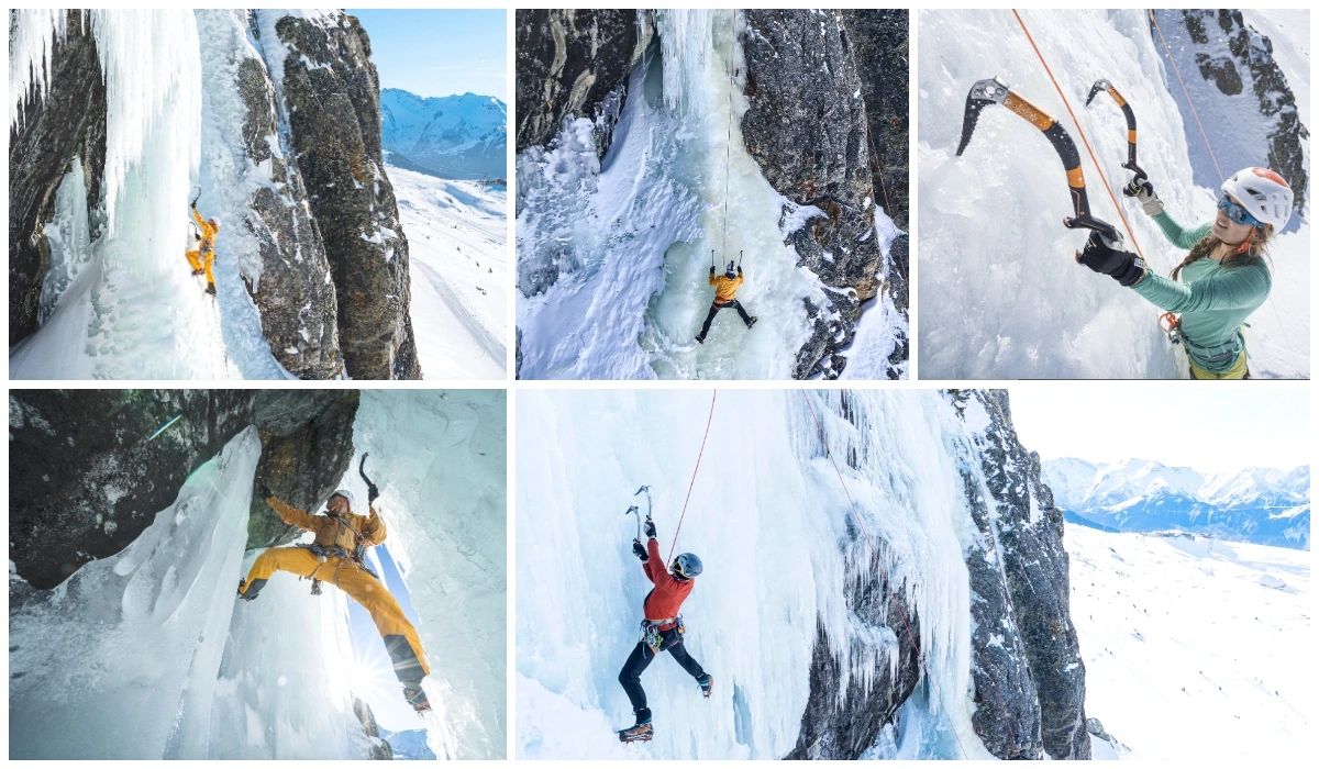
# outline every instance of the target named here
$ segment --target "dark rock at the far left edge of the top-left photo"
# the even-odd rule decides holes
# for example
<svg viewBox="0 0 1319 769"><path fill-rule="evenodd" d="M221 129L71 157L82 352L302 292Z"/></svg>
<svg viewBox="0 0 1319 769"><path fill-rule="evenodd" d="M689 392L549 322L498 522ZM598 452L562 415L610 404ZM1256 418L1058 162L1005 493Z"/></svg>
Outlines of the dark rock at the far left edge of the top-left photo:
<svg viewBox="0 0 1319 769"><path fill-rule="evenodd" d="M84 168L87 210L102 204L106 78L90 18L82 11L66 13L66 36L53 38L49 88L44 96L34 90L25 94L18 121L9 127L11 346L37 330L42 280L50 266L44 227L54 215L55 190L75 161ZM13 16L9 24L12 29ZM95 237L100 226L91 226Z"/></svg>

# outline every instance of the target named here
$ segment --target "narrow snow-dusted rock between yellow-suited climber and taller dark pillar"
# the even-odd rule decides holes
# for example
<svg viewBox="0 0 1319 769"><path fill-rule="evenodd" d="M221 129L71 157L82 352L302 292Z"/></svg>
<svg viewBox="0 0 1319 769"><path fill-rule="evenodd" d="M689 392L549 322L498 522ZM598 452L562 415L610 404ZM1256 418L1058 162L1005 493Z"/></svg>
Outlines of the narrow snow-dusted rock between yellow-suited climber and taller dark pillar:
<svg viewBox="0 0 1319 769"><path fill-rule="evenodd" d="M306 203L302 174L272 148L278 146L282 133L274 84L261 59L244 58L235 69L235 86L247 108L247 160L253 173L268 173L241 223L257 241L261 277L253 281L244 276L244 282L280 365L299 379L336 379L343 375L338 297L326 280L330 261Z"/></svg>

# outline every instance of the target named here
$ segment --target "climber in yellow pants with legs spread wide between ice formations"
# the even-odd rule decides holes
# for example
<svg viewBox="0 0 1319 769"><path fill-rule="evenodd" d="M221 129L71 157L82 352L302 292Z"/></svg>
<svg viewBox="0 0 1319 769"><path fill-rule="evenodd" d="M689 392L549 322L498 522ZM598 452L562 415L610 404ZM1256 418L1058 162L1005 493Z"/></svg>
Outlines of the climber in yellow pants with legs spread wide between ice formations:
<svg viewBox="0 0 1319 769"><path fill-rule="evenodd" d="M328 582L348 594L361 604L375 620L385 649L394 663L394 674L404 685L404 696L418 712L430 710L421 681L430 674L426 653L421 648L417 629L404 615L402 607L389 594L385 583L372 574L365 563L365 549L385 541L385 522L372 507L371 513L359 516L352 512L352 492L339 489L330 495L324 514L313 516L299 510L259 483L259 491L265 504L280 516L280 520L315 533L310 545L290 547L270 547L257 557L248 578L239 583L239 596L256 600L261 588L276 571L289 571L313 580ZM371 503L377 492L371 488ZM313 592L319 592L319 584L313 582Z"/></svg>

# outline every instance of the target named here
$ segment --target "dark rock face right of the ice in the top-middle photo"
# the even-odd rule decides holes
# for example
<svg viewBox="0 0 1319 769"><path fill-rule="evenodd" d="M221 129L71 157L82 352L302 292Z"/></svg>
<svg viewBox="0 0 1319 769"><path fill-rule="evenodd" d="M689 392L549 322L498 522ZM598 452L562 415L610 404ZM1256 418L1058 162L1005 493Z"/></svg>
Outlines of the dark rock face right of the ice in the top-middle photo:
<svg viewBox="0 0 1319 769"><path fill-rule="evenodd" d="M789 236L798 264L834 289L827 306L807 302L814 332L798 351L793 376L836 377L845 365L839 351L855 334L860 306L880 293L885 278L871 208L876 191L869 115L856 51L838 12L744 11L743 17L747 152L778 193L826 214ZM853 28L864 33L859 21ZM906 69L892 77L905 100Z"/></svg>

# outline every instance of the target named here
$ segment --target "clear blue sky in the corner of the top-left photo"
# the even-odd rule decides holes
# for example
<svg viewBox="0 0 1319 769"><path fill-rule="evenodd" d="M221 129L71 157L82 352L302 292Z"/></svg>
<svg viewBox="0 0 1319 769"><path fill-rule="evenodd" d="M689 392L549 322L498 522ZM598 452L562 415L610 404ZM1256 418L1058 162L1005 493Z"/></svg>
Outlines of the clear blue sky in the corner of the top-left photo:
<svg viewBox="0 0 1319 769"><path fill-rule="evenodd" d="M381 88L508 102L504 11L348 9L371 37Z"/></svg>

